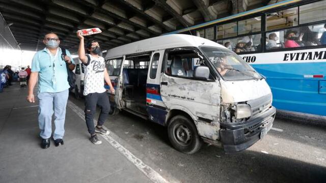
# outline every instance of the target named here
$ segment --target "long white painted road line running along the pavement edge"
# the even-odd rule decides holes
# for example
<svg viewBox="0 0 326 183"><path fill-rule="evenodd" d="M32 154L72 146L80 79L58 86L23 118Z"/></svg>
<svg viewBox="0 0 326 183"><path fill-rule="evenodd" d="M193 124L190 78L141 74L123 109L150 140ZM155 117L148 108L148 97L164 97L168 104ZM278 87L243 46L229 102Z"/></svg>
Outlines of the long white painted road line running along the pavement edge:
<svg viewBox="0 0 326 183"><path fill-rule="evenodd" d="M85 121L84 111L68 100L67 106L73 110L80 118ZM94 119L94 123L97 121ZM105 127L105 126L104 126ZM107 129L107 128L106 128ZM111 132L112 133L112 132ZM122 146L119 142L113 139L110 135L101 135L108 143L117 149L123 156L125 156L131 163L133 163L140 171L142 171L153 182L166 183L169 182L157 173L153 168L146 165L141 159L135 157L128 149Z"/></svg>

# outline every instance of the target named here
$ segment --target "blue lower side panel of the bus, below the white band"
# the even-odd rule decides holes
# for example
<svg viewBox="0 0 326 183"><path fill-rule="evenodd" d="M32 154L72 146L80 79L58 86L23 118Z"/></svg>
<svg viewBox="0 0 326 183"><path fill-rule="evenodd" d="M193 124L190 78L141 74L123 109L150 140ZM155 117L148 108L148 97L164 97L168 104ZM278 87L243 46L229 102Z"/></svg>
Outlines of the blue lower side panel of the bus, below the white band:
<svg viewBox="0 0 326 183"><path fill-rule="evenodd" d="M319 81L326 80L325 62L252 66L266 76L276 108L326 115L326 95L319 93Z"/></svg>

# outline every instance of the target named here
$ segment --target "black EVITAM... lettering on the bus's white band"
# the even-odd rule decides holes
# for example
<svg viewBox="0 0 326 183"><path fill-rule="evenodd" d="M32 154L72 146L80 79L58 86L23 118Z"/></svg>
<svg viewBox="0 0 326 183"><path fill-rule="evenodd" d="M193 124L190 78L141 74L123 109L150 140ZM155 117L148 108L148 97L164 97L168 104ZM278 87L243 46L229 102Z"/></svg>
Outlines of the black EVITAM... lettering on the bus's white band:
<svg viewBox="0 0 326 183"><path fill-rule="evenodd" d="M283 61L326 59L326 51L285 53Z"/></svg>

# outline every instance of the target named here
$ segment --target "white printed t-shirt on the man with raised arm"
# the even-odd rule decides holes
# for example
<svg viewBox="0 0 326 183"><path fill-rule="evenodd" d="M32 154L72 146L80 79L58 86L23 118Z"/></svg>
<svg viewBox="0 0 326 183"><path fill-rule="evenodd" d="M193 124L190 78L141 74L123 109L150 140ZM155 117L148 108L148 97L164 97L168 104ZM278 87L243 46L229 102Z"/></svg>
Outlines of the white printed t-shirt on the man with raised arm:
<svg viewBox="0 0 326 183"><path fill-rule="evenodd" d="M104 88L104 69L105 62L102 56L94 57L91 54L86 55L87 63L84 65L84 96L91 93L103 93Z"/></svg>

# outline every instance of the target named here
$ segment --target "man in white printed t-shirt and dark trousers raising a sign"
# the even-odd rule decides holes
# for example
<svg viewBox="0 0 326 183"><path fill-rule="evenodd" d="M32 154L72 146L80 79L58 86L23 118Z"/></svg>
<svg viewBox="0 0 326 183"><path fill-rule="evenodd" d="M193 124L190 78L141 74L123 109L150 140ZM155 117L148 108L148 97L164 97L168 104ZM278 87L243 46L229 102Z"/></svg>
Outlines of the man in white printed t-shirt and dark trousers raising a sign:
<svg viewBox="0 0 326 183"><path fill-rule="evenodd" d="M110 102L105 92L103 80L110 86L111 93L115 90L112 86L110 77L105 69L105 62L102 56L99 56L101 51L96 40L89 40L86 48L89 54L85 55L84 37L80 32L77 32L77 37L80 40L78 48L79 59L84 64L85 79L84 79L84 96L85 96L85 120L88 132L91 134L91 142L101 144L96 133L107 135L109 132L103 129L103 123L110 112ZM96 105L101 107L101 113L97 120L97 125L94 127L93 119L96 112Z"/></svg>

